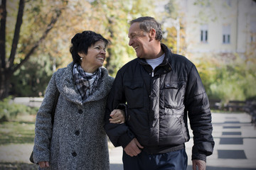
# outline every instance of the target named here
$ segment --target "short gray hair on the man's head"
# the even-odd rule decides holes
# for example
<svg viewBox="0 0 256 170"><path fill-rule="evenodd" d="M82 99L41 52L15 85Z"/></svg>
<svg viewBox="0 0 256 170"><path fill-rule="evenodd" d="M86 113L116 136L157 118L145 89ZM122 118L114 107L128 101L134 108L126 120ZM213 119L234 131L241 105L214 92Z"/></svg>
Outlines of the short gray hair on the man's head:
<svg viewBox="0 0 256 170"><path fill-rule="evenodd" d="M139 18L136 18L129 22L130 25L132 23L139 23L139 28L144 30L146 33L149 33L149 31L154 28L156 30L156 40L161 41L163 38L163 31L161 30L161 23L158 23L155 18L151 16L142 16Z"/></svg>

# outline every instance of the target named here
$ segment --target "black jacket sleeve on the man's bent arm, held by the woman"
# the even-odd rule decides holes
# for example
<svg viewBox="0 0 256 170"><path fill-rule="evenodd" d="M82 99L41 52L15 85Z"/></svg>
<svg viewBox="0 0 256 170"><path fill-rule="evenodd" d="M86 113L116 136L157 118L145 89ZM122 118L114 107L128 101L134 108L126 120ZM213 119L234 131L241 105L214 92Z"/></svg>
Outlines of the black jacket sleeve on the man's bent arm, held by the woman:
<svg viewBox="0 0 256 170"><path fill-rule="evenodd" d="M115 124L110 123L109 120L110 113L114 109L123 109L123 105L121 103L126 103L126 100L122 84L122 74L119 71L117 72L117 76L114 79L110 95L107 99L107 106L105 111L105 131L114 147L122 146L124 148L129 144L129 142L132 141L134 134L129 130L125 123Z"/></svg>

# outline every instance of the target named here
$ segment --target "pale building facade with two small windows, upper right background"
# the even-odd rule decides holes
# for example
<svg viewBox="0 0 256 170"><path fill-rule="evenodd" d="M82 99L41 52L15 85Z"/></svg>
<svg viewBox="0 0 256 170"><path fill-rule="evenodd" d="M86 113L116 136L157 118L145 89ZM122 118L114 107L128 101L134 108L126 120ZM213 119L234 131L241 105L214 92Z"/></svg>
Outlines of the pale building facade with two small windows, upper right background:
<svg viewBox="0 0 256 170"><path fill-rule="evenodd" d="M255 50L256 2L252 0L179 1L189 57L239 54ZM181 12L182 12L181 11Z"/></svg>

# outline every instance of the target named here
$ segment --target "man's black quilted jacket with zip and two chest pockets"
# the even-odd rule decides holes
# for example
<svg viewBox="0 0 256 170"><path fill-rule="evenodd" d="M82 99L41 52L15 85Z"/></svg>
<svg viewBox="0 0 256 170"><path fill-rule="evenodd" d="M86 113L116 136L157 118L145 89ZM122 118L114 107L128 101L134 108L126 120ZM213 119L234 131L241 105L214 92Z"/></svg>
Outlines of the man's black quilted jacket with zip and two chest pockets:
<svg viewBox="0 0 256 170"><path fill-rule="evenodd" d="M195 65L161 45L164 61L154 69L135 59L122 67L107 101L105 130L115 147L126 147L136 137L149 153L183 148L193 130L192 159L206 161L213 152L211 113L208 97ZM110 112L127 103L126 123L109 123Z"/></svg>

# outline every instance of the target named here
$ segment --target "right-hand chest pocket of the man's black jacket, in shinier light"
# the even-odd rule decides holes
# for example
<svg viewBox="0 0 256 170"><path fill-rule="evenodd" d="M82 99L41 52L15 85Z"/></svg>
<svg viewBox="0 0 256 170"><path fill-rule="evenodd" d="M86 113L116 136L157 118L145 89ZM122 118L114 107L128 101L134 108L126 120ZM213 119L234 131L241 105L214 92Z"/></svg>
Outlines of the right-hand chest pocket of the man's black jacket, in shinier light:
<svg viewBox="0 0 256 170"><path fill-rule="evenodd" d="M185 96L185 81L169 81L164 84L164 106L166 108L180 108Z"/></svg>

